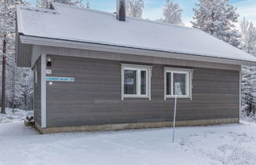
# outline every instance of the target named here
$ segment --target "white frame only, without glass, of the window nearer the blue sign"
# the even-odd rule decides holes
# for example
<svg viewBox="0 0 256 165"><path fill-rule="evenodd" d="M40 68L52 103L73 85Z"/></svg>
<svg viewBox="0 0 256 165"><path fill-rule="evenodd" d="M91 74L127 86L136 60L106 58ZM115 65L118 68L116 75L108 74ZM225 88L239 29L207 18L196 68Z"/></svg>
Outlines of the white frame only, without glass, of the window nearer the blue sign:
<svg viewBox="0 0 256 165"><path fill-rule="evenodd" d="M141 94L141 74L137 74L137 94L124 94L124 70L134 70L137 73L141 73L141 71L146 72L146 94ZM122 101L124 98L131 97L144 97L149 98L151 100L151 76L152 76L152 66L148 65L137 65L137 64L121 64L121 82L122 82Z"/></svg>

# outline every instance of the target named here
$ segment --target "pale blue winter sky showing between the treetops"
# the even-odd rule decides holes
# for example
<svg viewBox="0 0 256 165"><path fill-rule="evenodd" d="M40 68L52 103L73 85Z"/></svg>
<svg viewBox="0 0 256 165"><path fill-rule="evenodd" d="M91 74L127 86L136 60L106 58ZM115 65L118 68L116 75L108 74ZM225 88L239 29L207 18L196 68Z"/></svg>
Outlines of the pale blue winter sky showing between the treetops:
<svg viewBox="0 0 256 165"><path fill-rule="evenodd" d="M36 5L36 0L28 0L32 3L32 6ZM83 0L84 2L89 1L91 9L98 9L107 12L115 12L116 0ZM183 9L183 22L186 26L191 26L190 20L193 18L193 8L198 0L174 0L178 2ZM143 18L149 20L157 20L162 16L162 9L165 0L145 0L145 9L143 12ZM243 19L243 16L250 20L256 25L256 0L231 0L239 14L239 20Z"/></svg>

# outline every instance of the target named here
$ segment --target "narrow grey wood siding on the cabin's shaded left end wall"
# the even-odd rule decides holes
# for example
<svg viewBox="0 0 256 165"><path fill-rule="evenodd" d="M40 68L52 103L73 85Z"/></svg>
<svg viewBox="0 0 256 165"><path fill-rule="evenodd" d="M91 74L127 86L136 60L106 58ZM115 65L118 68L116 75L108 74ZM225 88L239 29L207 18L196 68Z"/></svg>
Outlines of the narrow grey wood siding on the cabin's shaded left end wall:
<svg viewBox="0 0 256 165"><path fill-rule="evenodd" d="M36 123L40 124L41 126L41 58L39 58L39 60L36 62L36 66L37 66L37 84L35 84L35 80L34 80L34 84L35 84L34 117L35 117Z"/></svg>

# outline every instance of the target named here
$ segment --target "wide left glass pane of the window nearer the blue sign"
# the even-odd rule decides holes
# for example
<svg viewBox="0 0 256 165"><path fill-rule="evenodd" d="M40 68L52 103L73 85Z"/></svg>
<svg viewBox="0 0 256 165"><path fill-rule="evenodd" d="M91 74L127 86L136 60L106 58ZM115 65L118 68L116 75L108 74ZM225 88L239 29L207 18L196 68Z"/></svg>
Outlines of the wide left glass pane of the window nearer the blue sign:
<svg viewBox="0 0 256 165"><path fill-rule="evenodd" d="M124 70L124 94L137 94L137 71Z"/></svg>

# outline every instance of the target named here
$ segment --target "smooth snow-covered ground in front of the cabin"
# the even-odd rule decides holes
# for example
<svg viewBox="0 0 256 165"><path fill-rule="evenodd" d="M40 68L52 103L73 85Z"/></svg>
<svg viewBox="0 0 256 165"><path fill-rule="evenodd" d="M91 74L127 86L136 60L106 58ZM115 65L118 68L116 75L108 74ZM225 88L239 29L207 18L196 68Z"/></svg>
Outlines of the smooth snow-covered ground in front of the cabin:
<svg viewBox="0 0 256 165"><path fill-rule="evenodd" d="M254 165L256 124L38 134L22 122L0 124L0 164Z"/></svg>

